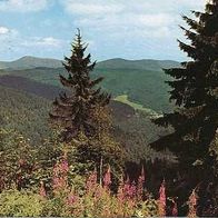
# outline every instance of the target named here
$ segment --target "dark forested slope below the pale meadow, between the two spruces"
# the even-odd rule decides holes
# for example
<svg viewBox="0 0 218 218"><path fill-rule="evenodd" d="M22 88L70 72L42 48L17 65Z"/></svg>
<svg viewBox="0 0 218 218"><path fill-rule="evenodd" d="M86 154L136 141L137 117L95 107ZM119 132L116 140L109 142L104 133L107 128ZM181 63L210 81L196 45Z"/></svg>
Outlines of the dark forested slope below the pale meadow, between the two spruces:
<svg viewBox="0 0 218 218"><path fill-rule="evenodd" d="M127 113L128 117L123 117L121 115L123 109L121 107L118 109L120 111L113 113L113 136L121 145L125 145L128 161L136 164L155 162L156 160L175 162L172 153L155 151L148 146L159 136L169 133L170 129L157 128L142 111L137 111L133 115Z"/></svg>

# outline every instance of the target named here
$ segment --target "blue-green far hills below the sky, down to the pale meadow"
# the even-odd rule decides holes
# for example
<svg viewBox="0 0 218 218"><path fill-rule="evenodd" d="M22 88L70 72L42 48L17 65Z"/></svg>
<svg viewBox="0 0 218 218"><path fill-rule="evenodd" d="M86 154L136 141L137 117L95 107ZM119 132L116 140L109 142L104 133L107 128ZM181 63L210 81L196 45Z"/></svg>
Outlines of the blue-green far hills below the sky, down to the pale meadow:
<svg viewBox="0 0 218 218"><path fill-rule="evenodd" d="M27 62L37 58L24 57ZM37 59L38 60L38 59ZM38 62L39 61L39 62ZM48 68L52 63L49 63L50 59L46 59L47 67L42 67L38 61L37 68L19 69L13 68L14 65L9 65L10 69L1 69L0 76L13 75L23 78L31 79L46 85L52 85L60 87L58 76L65 75L66 71L62 67L58 67L60 61L57 61L58 68ZM22 62L22 59L17 60L17 63ZM42 61L43 62L43 61ZM52 61L51 61L52 62ZM44 63L44 62L43 62ZM23 68L28 68L27 65L19 63ZM41 65L41 66L40 66ZM97 63L92 77L105 77L101 86L102 88L112 93L116 98L118 96L126 95L128 100L139 103L145 108L155 110L156 112L169 111L174 105L168 101L169 87L165 83L170 78L162 72L162 68L178 67L179 63L169 60L123 60L111 59Z"/></svg>

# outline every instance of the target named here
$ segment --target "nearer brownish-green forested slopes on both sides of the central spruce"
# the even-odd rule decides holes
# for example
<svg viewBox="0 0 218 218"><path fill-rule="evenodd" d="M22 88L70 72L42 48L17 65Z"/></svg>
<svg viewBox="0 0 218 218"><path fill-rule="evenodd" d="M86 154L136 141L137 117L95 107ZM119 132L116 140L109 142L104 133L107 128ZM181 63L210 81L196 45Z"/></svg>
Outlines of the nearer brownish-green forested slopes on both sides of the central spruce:
<svg viewBox="0 0 218 218"><path fill-rule="evenodd" d="M20 83L19 90L0 85L0 125L1 128L22 133L26 139L28 138L32 145L37 146L51 136L48 121L51 100L48 99L49 96L44 96L47 86L44 86L44 92L34 92L33 89L34 93L32 93L31 90L21 91L21 85L23 83ZM36 82L34 88L38 86ZM147 115L136 111L126 103L111 101L110 109L112 133L126 147L130 161L160 158L160 153L147 145L156 140L158 136L167 133L166 129L157 128ZM171 157L168 153L161 153L161 157L164 156Z"/></svg>

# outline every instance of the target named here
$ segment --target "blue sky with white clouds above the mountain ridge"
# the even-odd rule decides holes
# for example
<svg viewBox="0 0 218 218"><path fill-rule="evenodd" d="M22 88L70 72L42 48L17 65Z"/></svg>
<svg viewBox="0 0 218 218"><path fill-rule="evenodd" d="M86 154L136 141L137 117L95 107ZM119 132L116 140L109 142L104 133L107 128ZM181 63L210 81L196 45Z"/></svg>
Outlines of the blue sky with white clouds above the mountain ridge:
<svg viewBox="0 0 218 218"><path fill-rule="evenodd" d="M206 0L0 0L0 60L63 59L77 28L93 60L187 59L181 14Z"/></svg>

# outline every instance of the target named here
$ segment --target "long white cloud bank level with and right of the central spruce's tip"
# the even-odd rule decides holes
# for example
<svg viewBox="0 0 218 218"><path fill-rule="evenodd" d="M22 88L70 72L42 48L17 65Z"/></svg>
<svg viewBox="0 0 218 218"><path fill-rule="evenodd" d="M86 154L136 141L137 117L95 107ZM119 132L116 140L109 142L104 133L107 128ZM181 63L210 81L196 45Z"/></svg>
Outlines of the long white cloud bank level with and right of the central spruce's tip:
<svg viewBox="0 0 218 218"><path fill-rule="evenodd" d="M121 16L105 16L101 19L95 18L78 18L76 23L79 27L91 29L97 33L107 32L107 37L113 39L132 40L132 38L169 38L172 29L177 27L178 16L167 13L157 14L136 14L123 13Z"/></svg>

